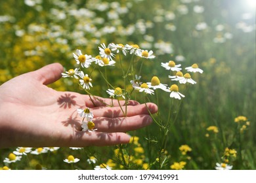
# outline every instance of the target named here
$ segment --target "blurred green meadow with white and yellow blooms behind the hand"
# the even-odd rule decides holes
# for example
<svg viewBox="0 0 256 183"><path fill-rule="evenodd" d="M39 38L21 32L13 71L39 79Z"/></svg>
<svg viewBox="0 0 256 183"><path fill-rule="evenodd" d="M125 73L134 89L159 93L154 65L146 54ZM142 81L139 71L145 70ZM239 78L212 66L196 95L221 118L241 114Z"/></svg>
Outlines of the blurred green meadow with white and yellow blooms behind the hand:
<svg viewBox="0 0 256 183"><path fill-rule="evenodd" d="M54 62L68 71L76 49L96 56L101 43L111 42L153 50L144 81L156 75L169 85L161 62L170 60L182 68L198 63L203 74L183 93L164 146L152 124L129 132L134 141L123 146L49 148L15 163L3 160L16 148L1 148L0 169L215 169L216 163L256 169L255 7L253 0L1 0L0 84ZM121 85L121 72L110 72L108 80ZM100 73L93 82L91 93L109 97ZM49 87L85 93L64 78ZM167 98L158 99L163 118ZM70 155L80 161L64 162Z"/></svg>

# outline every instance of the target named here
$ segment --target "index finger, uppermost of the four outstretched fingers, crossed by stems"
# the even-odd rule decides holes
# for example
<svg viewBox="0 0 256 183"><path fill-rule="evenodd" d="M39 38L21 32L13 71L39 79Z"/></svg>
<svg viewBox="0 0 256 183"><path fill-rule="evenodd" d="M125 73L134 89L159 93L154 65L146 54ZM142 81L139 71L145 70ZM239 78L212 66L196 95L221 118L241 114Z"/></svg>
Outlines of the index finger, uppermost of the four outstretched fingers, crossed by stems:
<svg viewBox="0 0 256 183"><path fill-rule="evenodd" d="M137 101L128 101L127 105L139 105ZM106 99L98 96L85 95L85 105L89 108L103 107L103 106L124 106L125 100L118 101L117 99Z"/></svg>

